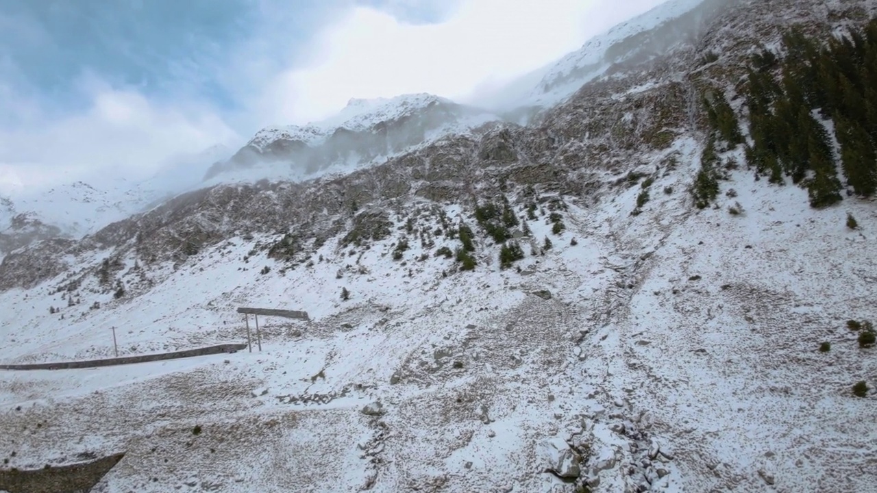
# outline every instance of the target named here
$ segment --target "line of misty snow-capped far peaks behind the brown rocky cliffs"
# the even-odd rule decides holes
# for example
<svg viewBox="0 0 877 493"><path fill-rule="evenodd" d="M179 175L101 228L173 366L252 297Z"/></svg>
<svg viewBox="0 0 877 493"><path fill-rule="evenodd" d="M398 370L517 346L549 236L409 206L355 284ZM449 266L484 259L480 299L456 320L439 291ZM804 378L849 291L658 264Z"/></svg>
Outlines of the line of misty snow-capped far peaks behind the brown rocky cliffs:
<svg viewBox="0 0 877 493"><path fill-rule="evenodd" d="M702 0L674 0L589 40L580 50L567 55L547 70L542 81L528 96L516 100L514 105L517 105L518 110L509 112L505 117L454 104L446 98L429 94L374 100L352 98L346 108L332 118L304 126L285 125L262 129L229 159L226 159L227 151L223 149L219 149L219 152L205 151L203 154L210 154L210 157L201 161L213 164L204 172L206 181L201 186L209 187L225 182L255 182L259 178L302 181L327 171L339 175L381 162L390 156L413 151L418 146L424 146L445 135L471 132L481 125L496 124L508 118L521 119L518 114L521 111L530 115L524 120L533 118L571 96L586 82L602 75L606 68L617 69L623 66L623 57L640 56L634 55L635 49L639 49L637 46L648 46L653 54L659 44L669 46L679 42L681 36L688 31L674 28L673 23L667 23L668 20L681 18L683 24L692 23L697 18L714 15L717 5L721 6L720 4L722 3ZM663 31L656 29L660 25L671 27ZM639 42L638 37L643 36L648 38L647 43ZM599 70L595 69L598 65L602 67ZM185 168L203 167L196 163ZM174 172L171 175L179 173ZM48 227L42 230L43 233L36 235L31 232L19 235L9 230L6 232L9 238L4 243L9 246L26 246L33 240L51 238L43 234L53 234L54 228L58 228L64 237L78 238L96 231L96 228L112 220L139 211L144 206L160 204L173 193L197 188L196 182L192 182L188 175L177 176L179 179L168 182L171 175L156 176L136 184L132 190L121 195L115 190L94 193L84 190L82 196L76 196L76 189L80 187L72 184L61 187L62 193L69 195L67 198L60 199L58 194L53 194L51 200L42 195L26 200L18 205L18 209L31 216L35 214L34 219ZM183 189L178 186L179 183L185 184ZM87 188L94 190L89 186ZM125 187L119 190L122 189ZM108 194L115 198L101 197ZM97 195L100 196L91 197ZM63 211L61 216L39 211L40 204L59 201L63 204L59 203L49 209ZM68 202L72 208L68 206ZM0 217L0 225L8 222L8 219L3 219ZM2 250L0 252L8 253Z"/></svg>

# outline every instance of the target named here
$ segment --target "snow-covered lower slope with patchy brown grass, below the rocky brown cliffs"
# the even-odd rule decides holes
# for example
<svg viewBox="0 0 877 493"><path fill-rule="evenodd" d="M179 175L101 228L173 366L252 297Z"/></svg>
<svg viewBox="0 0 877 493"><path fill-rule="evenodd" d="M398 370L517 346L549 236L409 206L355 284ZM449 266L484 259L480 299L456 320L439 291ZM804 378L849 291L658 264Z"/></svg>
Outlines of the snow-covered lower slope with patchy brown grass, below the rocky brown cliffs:
<svg viewBox="0 0 877 493"><path fill-rule="evenodd" d="M330 240L285 273L250 254L268 238L238 238L150 270L135 302L88 283L69 308L47 295L55 282L5 292L4 361L112 354L113 326L120 354L245 341L243 305L311 321L260 319L261 353L6 372L0 450L17 452L15 467L125 450L107 492L563 491L545 469L568 446L598 491L872 490L860 468L877 411L851 386L873 387L877 361L845 320L877 318L873 204L814 211L806 191L738 171L717 209L695 211L697 156L688 139L653 156L637 216L637 183L587 208L567 197L560 235L539 213L534 243L553 248L534 256L524 242L520 272L500 270L489 240L474 272L443 275L454 262L433 252L453 239L424 249L410 235L393 261L407 218L437 226L410 204L393 238Z"/></svg>

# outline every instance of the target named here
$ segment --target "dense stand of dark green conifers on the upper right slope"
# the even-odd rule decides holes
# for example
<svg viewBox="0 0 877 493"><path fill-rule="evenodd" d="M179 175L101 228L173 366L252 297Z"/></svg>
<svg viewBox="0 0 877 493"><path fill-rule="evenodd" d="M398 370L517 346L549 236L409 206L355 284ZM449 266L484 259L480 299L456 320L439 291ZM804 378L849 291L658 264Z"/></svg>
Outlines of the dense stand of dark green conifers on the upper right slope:
<svg viewBox="0 0 877 493"><path fill-rule="evenodd" d="M842 200L838 160L853 193L877 192L877 19L826 42L793 28L782 42L782 57L763 49L747 70L742 96L751 143L724 96L704 96L712 132L695 179L698 207L706 207L718 192L717 142L728 148L745 144L746 161L757 178L782 184L790 177L808 190L815 208Z"/></svg>

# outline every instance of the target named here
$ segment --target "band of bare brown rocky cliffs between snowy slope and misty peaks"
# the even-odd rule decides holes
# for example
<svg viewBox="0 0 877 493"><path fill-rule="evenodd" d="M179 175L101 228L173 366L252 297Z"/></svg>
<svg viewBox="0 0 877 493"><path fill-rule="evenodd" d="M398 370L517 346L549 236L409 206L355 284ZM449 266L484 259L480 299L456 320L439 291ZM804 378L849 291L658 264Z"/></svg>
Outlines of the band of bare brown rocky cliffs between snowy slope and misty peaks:
<svg viewBox="0 0 877 493"><path fill-rule="evenodd" d="M664 153L674 139L698 132L705 118L699 101L702 91L715 87L717 76L733 79L733 71L742 76L752 49L779 38L783 25L776 23L776 17L759 21L741 15L747 9L755 10L753 5L759 2L745 2L715 18L713 25L722 27L722 37L716 37L717 30L712 29L698 43L689 40L676 45L658 60L644 59L632 68L621 64L624 72L586 84L567 104L545 111L528 127L498 123L470 135L449 135L381 165L337 177L217 185L189 192L145 215L109 225L83 239L78 249L128 251L138 243L134 239L140 233L140 238L151 239L147 244L160 244L147 248L150 259L154 251L156 260L182 260L183 245L201 248L239 232L298 230L328 239L349 227L348 218L360 207L381 209L387 201L408 197L439 203L467 197L464 200L471 207L479 196L495 195L510 183L518 187L540 185L545 190L596 201L591 193L605 185L607 175L628 173L631 160ZM807 22L794 6L788 9L795 12L790 22ZM814 18L810 21L813 28L831 29L824 24L824 13L810 17ZM859 11L859 17L865 19L866 13ZM742 29L743 23L750 23L749 28L739 31L738 37L745 39L754 31L759 39L748 45L752 49L729 49L743 43L729 33L731 26ZM666 29L666 24L660 28ZM702 44L707 41L712 46ZM723 53L722 62L711 62L680 78L691 65L702 65L707 53ZM244 150L238 154L241 152ZM208 216L203 218L196 211ZM298 213L290 218L289 211ZM0 264L0 274L14 273L0 275L0 286L31 286L63 269L61 263L49 261L40 275L20 272L22 266L32 265L34 258L45 259L46 255L38 247Z"/></svg>

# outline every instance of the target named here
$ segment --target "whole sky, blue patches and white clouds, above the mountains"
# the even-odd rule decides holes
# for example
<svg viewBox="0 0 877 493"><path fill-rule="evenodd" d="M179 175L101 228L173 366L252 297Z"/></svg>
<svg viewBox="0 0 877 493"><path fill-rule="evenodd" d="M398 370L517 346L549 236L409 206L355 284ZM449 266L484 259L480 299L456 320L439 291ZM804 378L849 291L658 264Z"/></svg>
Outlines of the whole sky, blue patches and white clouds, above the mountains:
<svg viewBox="0 0 877 493"><path fill-rule="evenodd" d="M4 0L0 194L141 179L351 97L459 101L661 0Z"/></svg>

